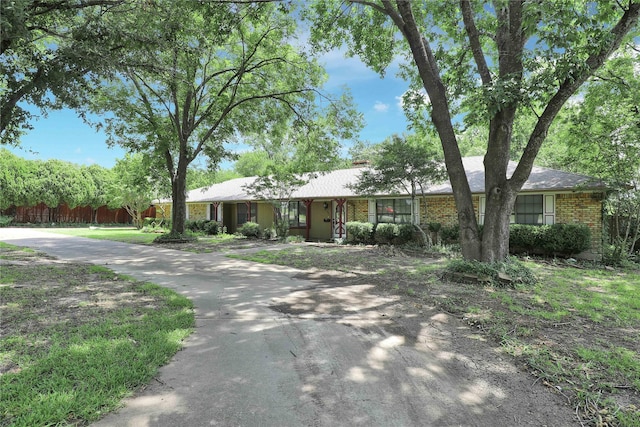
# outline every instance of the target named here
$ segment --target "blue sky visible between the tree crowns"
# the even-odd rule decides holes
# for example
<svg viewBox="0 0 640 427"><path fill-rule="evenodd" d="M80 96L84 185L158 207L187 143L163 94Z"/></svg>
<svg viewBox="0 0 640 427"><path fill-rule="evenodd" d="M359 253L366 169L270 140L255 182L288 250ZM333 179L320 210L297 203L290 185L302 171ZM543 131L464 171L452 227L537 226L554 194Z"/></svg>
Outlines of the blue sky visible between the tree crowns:
<svg viewBox="0 0 640 427"><path fill-rule="evenodd" d="M325 54L322 62L329 74L325 90L336 92L342 86L348 86L358 110L364 114L361 140L380 142L407 130L400 97L408 89L408 83L395 77L396 64L392 64L381 79L358 58L345 58L341 51ZM32 125L34 129L22 137L20 146L10 148L20 157L60 159L80 165L95 163L108 168L116 159L124 157L120 147L108 148L106 135L86 125L72 110L52 111L47 118L33 121ZM345 154L346 149L345 146ZM230 168L231 165L225 162L222 167Z"/></svg>

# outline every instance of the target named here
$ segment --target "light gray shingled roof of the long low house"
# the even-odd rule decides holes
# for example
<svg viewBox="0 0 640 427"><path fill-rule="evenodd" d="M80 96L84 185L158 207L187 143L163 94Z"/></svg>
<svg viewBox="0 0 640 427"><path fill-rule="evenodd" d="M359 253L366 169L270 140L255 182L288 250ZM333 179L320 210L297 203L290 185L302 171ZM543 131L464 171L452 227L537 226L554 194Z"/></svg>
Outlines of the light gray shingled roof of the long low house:
<svg viewBox="0 0 640 427"><path fill-rule="evenodd" d="M484 164L483 157L465 157L462 159L471 192L484 193ZM516 163L509 162L509 174L515 170ZM307 184L292 194L294 199L333 199L343 197L358 197L348 185L355 184L364 168L339 169L325 174L315 174ZM251 185L257 177L236 178L213 184L209 187L198 188L187 193L189 202L230 202L256 200L249 195L244 187ZM534 166L529 179L522 191L568 191L568 190L604 189L603 184L595 178L562 172ZM452 194L451 184L446 181L441 184L425 188L425 195Z"/></svg>

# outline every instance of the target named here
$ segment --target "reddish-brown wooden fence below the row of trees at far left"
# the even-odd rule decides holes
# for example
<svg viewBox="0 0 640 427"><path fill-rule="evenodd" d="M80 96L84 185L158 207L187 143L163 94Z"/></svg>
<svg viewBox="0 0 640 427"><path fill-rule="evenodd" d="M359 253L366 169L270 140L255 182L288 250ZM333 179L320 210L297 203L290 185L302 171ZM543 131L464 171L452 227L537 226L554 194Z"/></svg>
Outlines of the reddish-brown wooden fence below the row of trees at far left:
<svg viewBox="0 0 640 427"><path fill-rule="evenodd" d="M77 206L71 209L67 205L51 208L44 203L36 206L12 206L0 211L2 215L13 216L16 223L80 223L80 224L131 224L131 215L124 208L109 209L100 206L93 209L91 206ZM142 213L142 217L155 217L156 208L149 207Z"/></svg>

